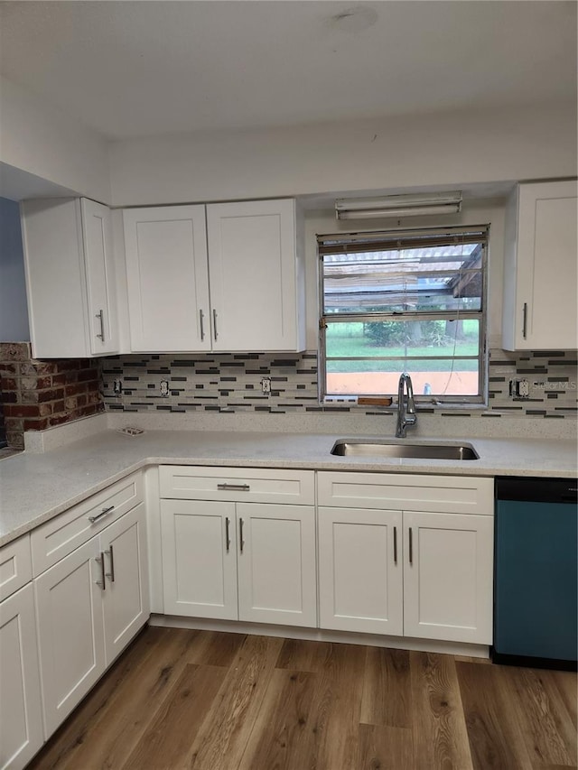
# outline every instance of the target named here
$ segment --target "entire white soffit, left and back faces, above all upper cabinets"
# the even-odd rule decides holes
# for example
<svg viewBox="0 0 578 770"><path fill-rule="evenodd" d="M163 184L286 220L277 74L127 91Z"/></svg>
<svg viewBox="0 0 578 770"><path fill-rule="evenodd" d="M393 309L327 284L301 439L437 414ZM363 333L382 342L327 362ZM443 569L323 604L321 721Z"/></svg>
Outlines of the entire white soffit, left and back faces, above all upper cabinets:
<svg viewBox="0 0 578 770"><path fill-rule="evenodd" d="M114 206L440 188L576 173L575 103L108 144L2 79L0 114L0 163Z"/></svg>

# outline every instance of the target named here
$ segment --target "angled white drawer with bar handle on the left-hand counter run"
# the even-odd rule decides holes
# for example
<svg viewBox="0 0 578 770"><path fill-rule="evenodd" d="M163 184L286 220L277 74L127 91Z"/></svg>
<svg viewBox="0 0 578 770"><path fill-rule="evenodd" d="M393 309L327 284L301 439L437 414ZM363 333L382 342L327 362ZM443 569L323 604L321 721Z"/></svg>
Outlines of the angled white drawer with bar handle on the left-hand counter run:
<svg viewBox="0 0 578 770"><path fill-rule="evenodd" d="M34 577L143 500L143 475L135 473L37 527L31 536Z"/></svg>

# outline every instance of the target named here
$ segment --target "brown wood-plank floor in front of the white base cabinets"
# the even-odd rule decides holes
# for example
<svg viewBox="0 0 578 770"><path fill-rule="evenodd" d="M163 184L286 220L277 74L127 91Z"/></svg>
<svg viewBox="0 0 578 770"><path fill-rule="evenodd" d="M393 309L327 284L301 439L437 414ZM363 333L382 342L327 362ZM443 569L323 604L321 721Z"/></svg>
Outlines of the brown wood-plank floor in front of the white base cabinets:
<svg viewBox="0 0 578 770"><path fill-rule="evenodd" d="M147 628L33 770L560 770L576 675Z"/></svg>

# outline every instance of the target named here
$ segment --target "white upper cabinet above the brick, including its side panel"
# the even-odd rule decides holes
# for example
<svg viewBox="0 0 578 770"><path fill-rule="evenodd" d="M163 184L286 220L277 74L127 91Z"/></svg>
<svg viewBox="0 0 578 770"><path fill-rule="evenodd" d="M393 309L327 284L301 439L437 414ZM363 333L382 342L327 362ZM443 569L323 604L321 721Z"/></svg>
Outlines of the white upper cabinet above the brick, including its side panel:
<svg viewBox="0 0 578 770"><path fill-rule="evenodd" d="M118 352L110 211L89 199L22 203L33 356Z"/></svg>

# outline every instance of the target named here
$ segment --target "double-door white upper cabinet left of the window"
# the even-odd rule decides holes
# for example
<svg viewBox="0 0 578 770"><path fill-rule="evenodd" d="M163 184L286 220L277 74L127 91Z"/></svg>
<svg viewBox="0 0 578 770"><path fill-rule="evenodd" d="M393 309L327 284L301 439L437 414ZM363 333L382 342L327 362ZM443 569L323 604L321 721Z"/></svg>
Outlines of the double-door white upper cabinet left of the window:
<svg viewBox="0 0 578 770"><path fill-rule="evenodd" d="M303 350L295 201L123 212L131 349Z"/></svg>

